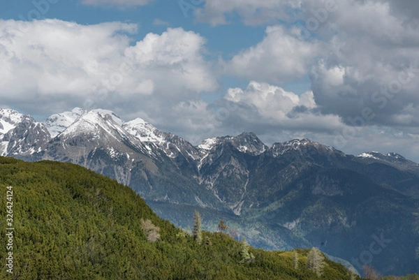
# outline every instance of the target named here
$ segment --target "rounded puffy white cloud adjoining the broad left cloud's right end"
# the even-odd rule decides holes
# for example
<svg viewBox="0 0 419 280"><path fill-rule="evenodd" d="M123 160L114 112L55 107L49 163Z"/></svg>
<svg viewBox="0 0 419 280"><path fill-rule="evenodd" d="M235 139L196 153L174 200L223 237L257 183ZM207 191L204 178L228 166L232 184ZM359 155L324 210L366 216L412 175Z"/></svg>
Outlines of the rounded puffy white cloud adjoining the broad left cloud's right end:
<svg viewBox="0 0 419 280"><path fill-rule="evenodd" d="M161 35L147 34L128 47L125 56L145 75L159 80L167 94L174 94L174 84L186 91L210 91L216 89L216 80L201 55L204 45L205 39L193 31L169 28Z"/></svg>

